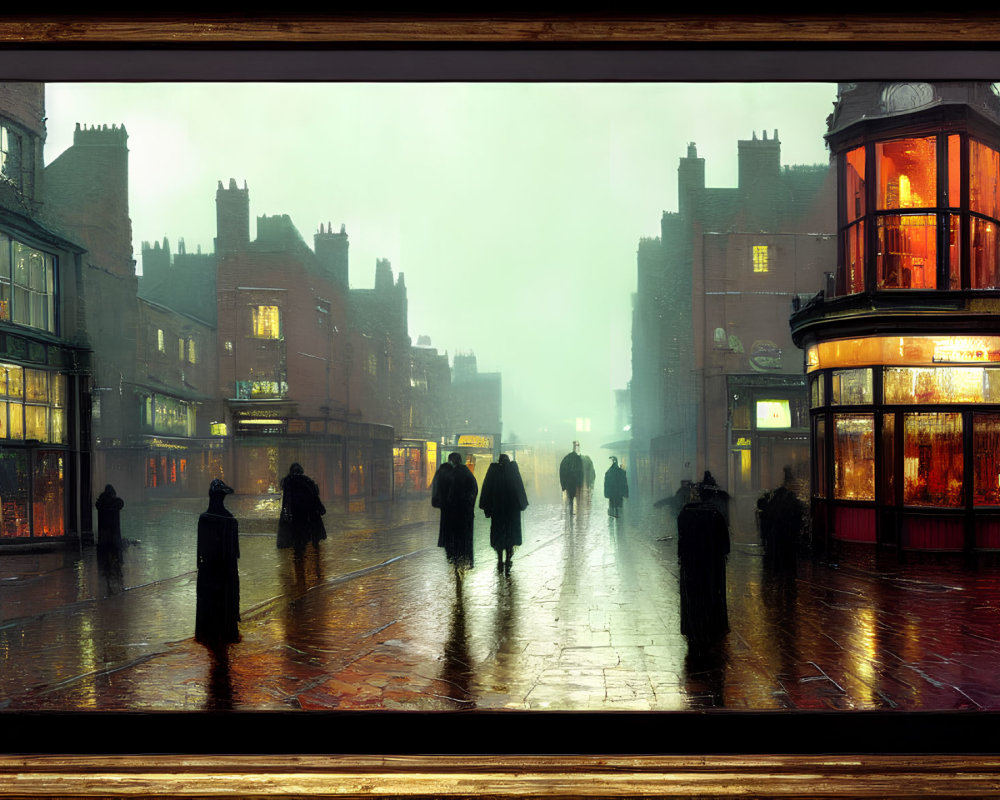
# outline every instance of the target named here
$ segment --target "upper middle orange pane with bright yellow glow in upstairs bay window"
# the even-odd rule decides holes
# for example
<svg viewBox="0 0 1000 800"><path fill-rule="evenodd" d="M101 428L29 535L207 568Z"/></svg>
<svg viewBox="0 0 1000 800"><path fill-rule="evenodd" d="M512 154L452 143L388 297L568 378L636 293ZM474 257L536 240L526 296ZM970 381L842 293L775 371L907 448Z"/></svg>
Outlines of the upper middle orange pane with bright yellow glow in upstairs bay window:
<svg viewBox="0 0 1000 800"><path fill-rule="evenodd" d="M937 142L932 136L875 145L878 208L937 206Z"/></svg>

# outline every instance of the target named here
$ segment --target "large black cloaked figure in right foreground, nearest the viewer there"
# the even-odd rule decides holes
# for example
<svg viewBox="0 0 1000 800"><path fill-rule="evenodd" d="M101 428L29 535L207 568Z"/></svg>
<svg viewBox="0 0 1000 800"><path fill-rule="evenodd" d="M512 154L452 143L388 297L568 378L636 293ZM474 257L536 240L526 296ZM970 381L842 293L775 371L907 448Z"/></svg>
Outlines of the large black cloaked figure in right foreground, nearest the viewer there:
<svg viewBox="0 0 1000 800"><path fill-rule="evenodd" d="M681 634L693 651L704 651L729 632L726 557L729 527L722 512L697 490L677 517Z"/></svg>

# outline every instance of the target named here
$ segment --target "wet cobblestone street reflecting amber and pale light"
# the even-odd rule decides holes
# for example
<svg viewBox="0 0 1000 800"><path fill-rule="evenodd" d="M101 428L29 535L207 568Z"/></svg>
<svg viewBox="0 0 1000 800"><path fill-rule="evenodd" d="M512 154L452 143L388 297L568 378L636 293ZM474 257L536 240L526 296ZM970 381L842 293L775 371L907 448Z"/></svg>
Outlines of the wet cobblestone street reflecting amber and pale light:
<svg viewBox="0 0 1000 800"><path fill-rule="evenodd" d="M602 500L524 515L498 573L488 522L461 586L429 503L331 516L301 559L274 546L273 500L241 520L242 641L193 641L201 501L126 508L120 575L82 553L0 562L6 710L998 709L1000 568L803 560L765 573L737 539L731 632L689 657L666 511ZM269 505L269 503L271 505Z"/></svg>

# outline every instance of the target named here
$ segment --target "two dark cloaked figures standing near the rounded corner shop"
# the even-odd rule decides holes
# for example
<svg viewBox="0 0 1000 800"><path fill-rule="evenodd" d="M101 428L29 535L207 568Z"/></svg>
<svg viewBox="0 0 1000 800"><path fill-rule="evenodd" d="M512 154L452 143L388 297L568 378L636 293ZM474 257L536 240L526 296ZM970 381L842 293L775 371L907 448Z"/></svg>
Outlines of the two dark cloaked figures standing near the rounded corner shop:
<svg viewBox="0 0 1000 800"><path fill-rule="evenodd" d="M794 576L806 514L791 469L785 467L784 473L781 486L757 501L757 519L765 569ZM729 632L729 494L709 471L700 483L685 482L678 494L686 495L677 516L681 634L691 650L704 652Z"/></svg>

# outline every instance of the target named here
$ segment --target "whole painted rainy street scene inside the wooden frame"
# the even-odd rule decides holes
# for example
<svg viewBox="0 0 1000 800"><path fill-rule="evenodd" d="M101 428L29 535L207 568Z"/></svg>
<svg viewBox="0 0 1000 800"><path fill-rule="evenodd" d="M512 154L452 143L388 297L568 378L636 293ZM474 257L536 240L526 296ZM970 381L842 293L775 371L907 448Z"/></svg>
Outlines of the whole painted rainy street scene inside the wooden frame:
<svg viewBox="0 0 1000 800"><path fill-rule="evenodd" d="M1000 93L0 83L0 710L1000 709Z"/></svg>

